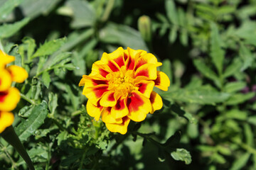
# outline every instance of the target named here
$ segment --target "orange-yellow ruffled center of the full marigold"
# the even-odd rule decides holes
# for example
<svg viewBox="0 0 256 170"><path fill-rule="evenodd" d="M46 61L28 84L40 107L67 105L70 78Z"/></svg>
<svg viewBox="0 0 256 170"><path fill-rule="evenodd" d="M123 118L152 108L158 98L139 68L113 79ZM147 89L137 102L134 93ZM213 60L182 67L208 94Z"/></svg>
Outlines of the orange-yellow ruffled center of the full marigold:
<svg viewBox="0 0 256 170"><path fill-rule="evenodd" d="M109 89L119 94L129 94L135 90L134 86L134 72L128 70L127 72L113 72L107 75L109 80Z"/></svg>

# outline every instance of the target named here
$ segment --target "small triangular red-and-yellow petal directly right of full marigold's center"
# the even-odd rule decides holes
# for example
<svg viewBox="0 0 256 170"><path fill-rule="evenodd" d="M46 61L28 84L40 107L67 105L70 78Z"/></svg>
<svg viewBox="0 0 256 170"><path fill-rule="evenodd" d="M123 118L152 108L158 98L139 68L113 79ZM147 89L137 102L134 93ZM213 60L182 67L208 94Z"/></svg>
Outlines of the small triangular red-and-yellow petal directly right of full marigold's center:
<svg viewBox="0 0 256 170"><path fill-rule="evenodd" d="M154 81L142 80L135 84L135 86L139 88L139 92L141 92L145 97L149 98L151 91L153 91L154 88Z"/></svg>

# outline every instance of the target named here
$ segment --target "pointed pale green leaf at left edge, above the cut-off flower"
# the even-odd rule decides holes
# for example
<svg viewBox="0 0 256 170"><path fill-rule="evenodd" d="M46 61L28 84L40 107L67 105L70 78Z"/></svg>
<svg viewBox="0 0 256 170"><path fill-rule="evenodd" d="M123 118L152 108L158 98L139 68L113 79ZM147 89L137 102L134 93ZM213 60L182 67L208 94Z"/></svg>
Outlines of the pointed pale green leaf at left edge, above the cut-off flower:
<svg viewBox="0 0 256 170"><path fill-rule="evenodd" d="M15 33L17 33L18 30L23 28L23 26L25 26L28 21L29 18L24 18L23 20L16 23L4 24L3 26L0 26L0 39L11 37Z"/></svg>

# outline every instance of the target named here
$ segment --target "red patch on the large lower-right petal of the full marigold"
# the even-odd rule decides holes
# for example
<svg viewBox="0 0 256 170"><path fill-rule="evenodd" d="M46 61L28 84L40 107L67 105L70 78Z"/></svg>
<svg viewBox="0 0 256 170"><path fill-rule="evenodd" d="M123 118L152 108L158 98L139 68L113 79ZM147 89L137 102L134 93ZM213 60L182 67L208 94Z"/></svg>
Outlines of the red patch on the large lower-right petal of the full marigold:
<svg viewBox="0 0 256 170"><path fill-rule="evenodd" d="M127 107L129 111L138 111L139 106L142 106L144 104L144 101L139 96L139 94L132 93L132 96L127 98Z"/></svg>

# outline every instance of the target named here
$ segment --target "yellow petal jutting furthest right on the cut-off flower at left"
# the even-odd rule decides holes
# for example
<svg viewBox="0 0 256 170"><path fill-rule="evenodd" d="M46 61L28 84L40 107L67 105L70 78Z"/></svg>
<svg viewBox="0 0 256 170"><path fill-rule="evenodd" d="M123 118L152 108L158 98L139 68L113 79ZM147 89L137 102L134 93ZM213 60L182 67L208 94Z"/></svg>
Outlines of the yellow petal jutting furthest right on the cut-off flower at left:
<svg viewBox="0 0 256 170"><path fill-rule="evenodd" d="M7 70L11 73L12 80L17 83L22 83L28 78L28 72L26 72L26 69L23 69L22 67L11 65L7 67Z"/></svg>

